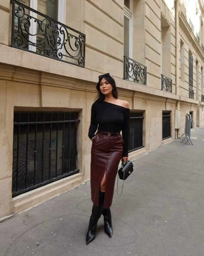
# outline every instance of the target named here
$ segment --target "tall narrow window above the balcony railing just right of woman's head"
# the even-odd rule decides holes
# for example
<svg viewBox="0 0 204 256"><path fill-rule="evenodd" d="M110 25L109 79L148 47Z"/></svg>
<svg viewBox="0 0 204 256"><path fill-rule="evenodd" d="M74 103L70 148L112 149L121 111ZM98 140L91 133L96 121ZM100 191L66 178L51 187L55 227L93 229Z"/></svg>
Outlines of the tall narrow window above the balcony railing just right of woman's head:
<svg viewBox="0 0 204 256"><path fill-rule="evenodd" d="M130 8L130 0L124 1L126 4ZM132 13L127 8L124 8L124 56L132 57Z"/></svg>

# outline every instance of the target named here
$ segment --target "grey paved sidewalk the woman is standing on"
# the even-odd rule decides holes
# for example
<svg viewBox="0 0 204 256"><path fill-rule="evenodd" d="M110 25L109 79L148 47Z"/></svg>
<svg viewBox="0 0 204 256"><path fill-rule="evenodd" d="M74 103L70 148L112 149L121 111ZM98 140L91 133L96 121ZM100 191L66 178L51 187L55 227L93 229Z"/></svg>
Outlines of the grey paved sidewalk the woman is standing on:
<svg viewBox="0 0 204 256"><path fill-rule="evenodd" d="M134 161L114 193L111 239L101 218L85 244L88 182L0 223L0 256L204 256L204 127L191 135L194 145L177 139Z"/></svg>

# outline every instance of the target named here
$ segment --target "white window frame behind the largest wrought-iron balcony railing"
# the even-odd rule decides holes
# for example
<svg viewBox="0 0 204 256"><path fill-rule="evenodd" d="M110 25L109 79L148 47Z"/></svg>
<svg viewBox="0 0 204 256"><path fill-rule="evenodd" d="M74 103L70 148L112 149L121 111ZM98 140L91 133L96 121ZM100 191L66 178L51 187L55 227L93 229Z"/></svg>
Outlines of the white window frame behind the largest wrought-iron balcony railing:
<svg viewBox="0 0 204 256"><path fill-rule="evenodd" d="M30 0L30 7L32 9L37 10L37 1L39 0ZM30 11L30 15L34 18L37 18L37 13ZM66 0L58 0L58 21L61 22L62 24L66 23ZM36 31L37 23L34 22L34 19L31 19L30 32L32 35L34 35L36 34ZM60 38L62 39L62 35L60 35ZM29 41L32 41L36 44L37 36L29 35ZM29 45L28 50L36 52L36 47L33 45Z"/></svg>

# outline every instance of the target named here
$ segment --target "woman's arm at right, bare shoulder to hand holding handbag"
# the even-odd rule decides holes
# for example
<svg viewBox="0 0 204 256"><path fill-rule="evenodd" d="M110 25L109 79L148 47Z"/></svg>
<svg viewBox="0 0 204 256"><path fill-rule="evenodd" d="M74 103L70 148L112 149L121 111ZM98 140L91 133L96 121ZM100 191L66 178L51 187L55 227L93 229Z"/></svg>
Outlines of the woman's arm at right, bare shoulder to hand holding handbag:
<svg viewBox="0 0 204 256"><path fill-rule="evenodd" d="M122 137L124 139L124 150L123 150L123 158L126 162L128 160L128 143L129 143L129 133L130 133L130 106L127 101L125 101L125 109L124 109L124 123L122 129Z"/></svg>

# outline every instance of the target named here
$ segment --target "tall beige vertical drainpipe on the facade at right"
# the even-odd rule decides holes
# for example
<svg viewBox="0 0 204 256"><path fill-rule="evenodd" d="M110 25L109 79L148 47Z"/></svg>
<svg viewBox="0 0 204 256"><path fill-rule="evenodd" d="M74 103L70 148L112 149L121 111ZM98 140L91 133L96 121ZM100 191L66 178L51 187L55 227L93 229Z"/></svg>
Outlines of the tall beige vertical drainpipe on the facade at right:
<svg viewBox="0 0 204 256"><path fill-rule="evenodd" d="M175 0L176 7L176 95L179 94L179 0ZM176 110L180 115L180 97L179 101L176 102ZM180 121L179 121L180 122ZM176 139L181 138L180 129L175 129Z"/></svg>

